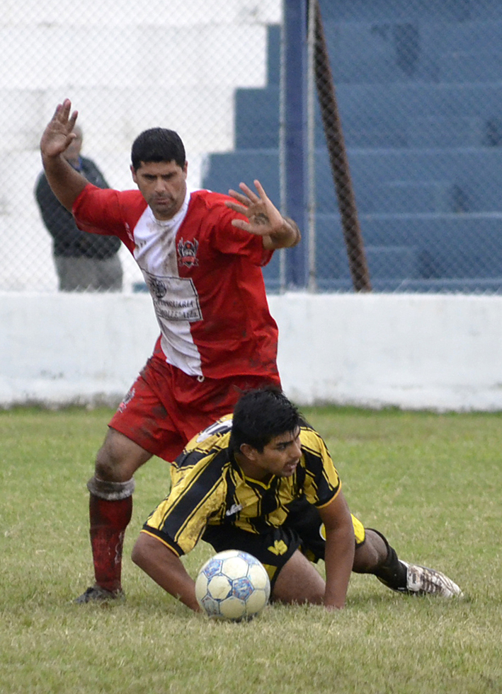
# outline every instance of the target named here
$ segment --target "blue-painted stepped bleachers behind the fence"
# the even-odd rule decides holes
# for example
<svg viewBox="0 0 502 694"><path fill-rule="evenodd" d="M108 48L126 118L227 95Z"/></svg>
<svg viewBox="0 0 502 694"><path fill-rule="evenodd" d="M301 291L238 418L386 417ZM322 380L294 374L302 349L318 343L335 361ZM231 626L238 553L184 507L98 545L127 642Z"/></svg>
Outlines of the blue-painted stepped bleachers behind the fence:
<svg viewBox="0 0 502 694"><path fill-rule="evenodd" d="M321 0L338 108L376 291L502 292L502 4ZM268 83L235 94L234 151L203 185L279 185L280 30ZM350 291L338 206L316 113L316 274ZM278 287L278 262L266 268Z"/></svg>

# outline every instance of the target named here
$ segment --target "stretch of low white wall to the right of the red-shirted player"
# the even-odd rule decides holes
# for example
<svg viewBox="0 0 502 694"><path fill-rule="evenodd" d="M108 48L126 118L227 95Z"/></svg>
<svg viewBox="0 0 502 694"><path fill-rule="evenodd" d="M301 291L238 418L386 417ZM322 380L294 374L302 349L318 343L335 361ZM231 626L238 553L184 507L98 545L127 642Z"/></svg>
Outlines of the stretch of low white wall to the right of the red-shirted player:
<svg viewBox="0 0 502 694"><path fill-rule="evenodd" d="M300 403L502 409L502 297L272 297L280 368Z"/></svg>

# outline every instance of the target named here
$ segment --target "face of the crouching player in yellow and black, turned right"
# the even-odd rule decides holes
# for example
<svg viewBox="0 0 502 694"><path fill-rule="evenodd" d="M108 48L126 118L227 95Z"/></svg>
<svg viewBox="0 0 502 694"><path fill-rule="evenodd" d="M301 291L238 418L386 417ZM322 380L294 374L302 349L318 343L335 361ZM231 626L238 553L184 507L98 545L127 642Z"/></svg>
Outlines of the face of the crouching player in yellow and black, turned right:
<svg viewBox="0 0 502 694"><path fill-rule="evenodd" d="M246 457L248 461L251 459L254 468L249 476L256 480L263 480L268 475L291 477L301 456L300 428L295 432L279 434L263 446L261 453L256 449L249 449Z"/></svg>

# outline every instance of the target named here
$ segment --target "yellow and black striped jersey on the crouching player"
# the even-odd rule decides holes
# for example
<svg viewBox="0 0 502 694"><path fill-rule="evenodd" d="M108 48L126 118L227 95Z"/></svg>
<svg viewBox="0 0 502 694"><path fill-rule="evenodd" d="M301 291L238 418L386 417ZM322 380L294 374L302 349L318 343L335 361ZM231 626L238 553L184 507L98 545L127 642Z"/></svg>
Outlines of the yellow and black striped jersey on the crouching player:
<svg viewBox="0 0 502 694"><path fill-rule="evenodd" d="M188 442L171 466L171 492L150 514L143 531L177 555L192 550L207 525L263 533L284 524L288 504L302 496L316 507L329 504L341 481L326 444L311 427L300 429L302 457L290 477L266 483L246 478L229 453L232 415Z"/></svg>

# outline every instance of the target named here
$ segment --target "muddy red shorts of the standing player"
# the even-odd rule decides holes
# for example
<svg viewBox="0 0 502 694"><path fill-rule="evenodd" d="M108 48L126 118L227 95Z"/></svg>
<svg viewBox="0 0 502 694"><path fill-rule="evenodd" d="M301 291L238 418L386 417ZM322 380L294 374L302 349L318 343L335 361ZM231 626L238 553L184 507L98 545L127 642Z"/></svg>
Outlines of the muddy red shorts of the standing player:
<svg viewBox="0 0 502 694"><path fill-rule="evenodd" d="M195 434L232 412L243 391L267 385L280 387L278 376L202 379L151 357L109 426L172 462Z"/></svg>

